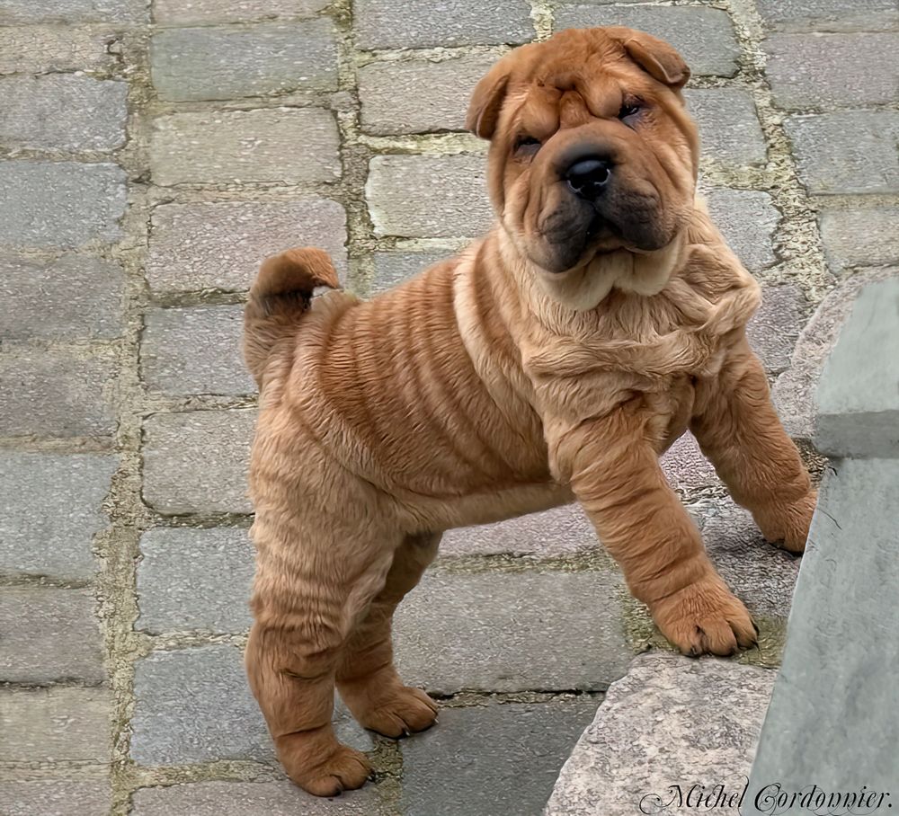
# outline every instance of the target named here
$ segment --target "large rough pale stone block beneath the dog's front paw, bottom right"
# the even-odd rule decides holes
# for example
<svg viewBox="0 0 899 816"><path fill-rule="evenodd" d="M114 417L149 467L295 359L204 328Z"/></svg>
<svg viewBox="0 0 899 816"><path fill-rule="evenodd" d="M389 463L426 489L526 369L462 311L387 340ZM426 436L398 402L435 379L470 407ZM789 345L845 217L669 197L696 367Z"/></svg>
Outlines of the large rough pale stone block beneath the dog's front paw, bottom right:
<svg viewBox="0 0 899 816"><path fill-rule="evenodd" d="M686 796L693 785L721 784L739 796L774 675L715 658L640 655L574 747L545 816L664 812L677 802L672 785Z"/></svg>

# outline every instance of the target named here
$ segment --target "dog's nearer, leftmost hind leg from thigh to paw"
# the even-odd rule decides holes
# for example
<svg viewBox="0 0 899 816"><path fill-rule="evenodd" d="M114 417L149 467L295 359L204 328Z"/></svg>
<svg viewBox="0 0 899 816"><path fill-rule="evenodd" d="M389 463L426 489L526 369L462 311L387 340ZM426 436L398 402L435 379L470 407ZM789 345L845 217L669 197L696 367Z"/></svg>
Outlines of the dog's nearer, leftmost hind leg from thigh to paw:
<svg viewBox="0 0 899 816"><path fill-rule="evenodd" d="M258 555L246 670L278 758L309 793L333 796L369 776L334 736L334 676L358 619L384 586L392 547L330 519L257 512ZM352 545L348 542L352 541Z"/></svg>

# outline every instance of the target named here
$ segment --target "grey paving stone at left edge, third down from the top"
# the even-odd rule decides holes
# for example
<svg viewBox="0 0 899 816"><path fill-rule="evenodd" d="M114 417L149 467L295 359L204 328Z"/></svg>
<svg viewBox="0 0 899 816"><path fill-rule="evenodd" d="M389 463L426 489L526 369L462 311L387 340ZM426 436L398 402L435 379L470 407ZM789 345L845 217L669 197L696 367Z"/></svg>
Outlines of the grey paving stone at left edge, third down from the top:
<svg viewBox="0 0 899 816"><path fill-rule="evenodd" d="M0 79L0 144L109 152L125 144L128 84L75 74Z"/></svg>

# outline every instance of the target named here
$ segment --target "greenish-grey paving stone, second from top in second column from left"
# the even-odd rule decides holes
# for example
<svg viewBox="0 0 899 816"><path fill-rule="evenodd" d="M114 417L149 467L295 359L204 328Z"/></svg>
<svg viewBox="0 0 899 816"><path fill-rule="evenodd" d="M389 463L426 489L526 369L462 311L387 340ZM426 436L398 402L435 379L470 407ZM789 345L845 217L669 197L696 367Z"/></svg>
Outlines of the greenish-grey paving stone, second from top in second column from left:
<svg viewBox="0 0 899 816"><path fill-rule="evenodd" d="M334 91L334 25L320 17L252 27L166 29L153 37L150 67L159 97L174 102Z"/></svg>

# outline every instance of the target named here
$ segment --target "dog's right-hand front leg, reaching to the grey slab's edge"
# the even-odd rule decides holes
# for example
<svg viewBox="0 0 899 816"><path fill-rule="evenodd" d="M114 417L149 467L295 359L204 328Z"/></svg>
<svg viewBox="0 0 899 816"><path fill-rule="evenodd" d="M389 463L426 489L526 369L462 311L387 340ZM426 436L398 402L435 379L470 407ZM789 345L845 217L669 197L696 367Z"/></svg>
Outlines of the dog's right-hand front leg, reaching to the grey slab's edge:
<svg viewBox="0 0 899 816"><path fill-rule="evenodd" d="M700 382L690 429L734 501L752 511L769 541L801 553L816 493L770 401L761 361L743 340L717 379Z"/></svg>

